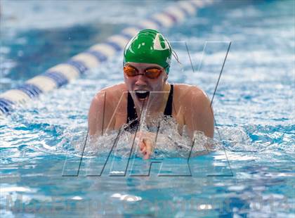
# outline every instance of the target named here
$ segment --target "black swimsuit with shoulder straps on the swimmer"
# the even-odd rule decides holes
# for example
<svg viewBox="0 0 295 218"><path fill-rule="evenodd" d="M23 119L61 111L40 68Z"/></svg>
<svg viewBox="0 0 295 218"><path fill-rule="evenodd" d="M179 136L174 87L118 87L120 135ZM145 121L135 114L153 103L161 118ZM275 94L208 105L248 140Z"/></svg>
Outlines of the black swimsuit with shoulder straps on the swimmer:
<svg viewBox="0 0 295 218"><path fill-rule="evenodd" d="M170 85L171 89L169 92L168 100L166 103L166 108L164 110L165 116L172 116L172 101L173 101L173 84ZM127 98L127 124L128 127L125 128L126 131L133 131L138 127L139 121L138 116L136 113L136 109L134 106L133 99L131 97L131 94L128 92L128 98Z"/></svg>

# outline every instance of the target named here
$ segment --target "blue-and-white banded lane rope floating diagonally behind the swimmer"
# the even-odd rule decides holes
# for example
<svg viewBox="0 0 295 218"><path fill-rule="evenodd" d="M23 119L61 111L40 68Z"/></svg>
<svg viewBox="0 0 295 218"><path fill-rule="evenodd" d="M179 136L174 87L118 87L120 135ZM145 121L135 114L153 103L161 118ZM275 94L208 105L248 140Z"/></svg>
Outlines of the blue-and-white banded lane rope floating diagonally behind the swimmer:
<svg viewBox="0 0 295 218"><path fill-rule="evenodd" d="M105 43L95 44L86 51L70 58L66 63L60 63L46 70L46 72L28 79L25 84L0 94L0 115L10 114L16 105L25 103L53 89L58 89L88 70L97 68L115 53L122 51L127 42L140 29L170 28L181 23L185 18L195 15L197 8L207 6L215 0L179 1L169 6L162 13L152 15L151 18L141 20L133 27L127 27L120 34L107 38Z"/></svg>

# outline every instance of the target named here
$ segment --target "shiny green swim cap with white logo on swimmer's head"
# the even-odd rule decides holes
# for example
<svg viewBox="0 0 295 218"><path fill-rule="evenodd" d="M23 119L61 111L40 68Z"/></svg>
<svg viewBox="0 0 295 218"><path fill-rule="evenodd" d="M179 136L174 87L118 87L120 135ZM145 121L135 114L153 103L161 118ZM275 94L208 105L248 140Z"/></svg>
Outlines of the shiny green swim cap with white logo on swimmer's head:
<svg viewBox="0 0 295 218"><path fill-rule="evenodd" d="M124 49L124 64L155 63L169 73L172 49L169 41L157 30L141 30Z"/></svg>

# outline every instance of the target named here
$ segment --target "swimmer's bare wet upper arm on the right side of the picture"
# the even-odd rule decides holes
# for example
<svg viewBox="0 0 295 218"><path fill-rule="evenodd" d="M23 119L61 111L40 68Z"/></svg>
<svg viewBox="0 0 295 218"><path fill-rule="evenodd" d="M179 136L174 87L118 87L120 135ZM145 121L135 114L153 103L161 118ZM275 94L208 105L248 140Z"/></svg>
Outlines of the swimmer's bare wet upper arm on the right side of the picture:
<svg viewBox="0 0 295 218"><path fill-rule="evenodd" d="M214 113L211 102L204 92L193 87L185 96L185 124L191 138L196 131L204 132L205 136L214 136Z"/></svg>

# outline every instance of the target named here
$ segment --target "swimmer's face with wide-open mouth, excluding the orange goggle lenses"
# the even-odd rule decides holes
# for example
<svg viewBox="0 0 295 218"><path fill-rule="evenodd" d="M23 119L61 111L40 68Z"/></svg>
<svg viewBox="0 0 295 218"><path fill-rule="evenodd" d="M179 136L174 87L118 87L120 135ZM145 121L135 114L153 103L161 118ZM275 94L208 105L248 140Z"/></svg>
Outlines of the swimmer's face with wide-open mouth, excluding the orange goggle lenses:
<svg viewBox="0 0 295 218"><path fill-rule="evenodd" d="M152 63L133 63L129 62L126 65L135 68L138 72L138 75L134 77L129 77L124 73L124 82L129 91L138 92L138 98L145 98L147 96L146 92L150 91L164 91L164 84L168 75L166 70L162 66ZM145 75L146 70L157 68L162 70L159 77L151 79Z"/></svg>

